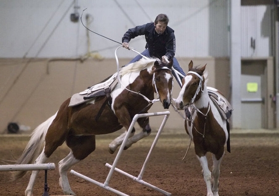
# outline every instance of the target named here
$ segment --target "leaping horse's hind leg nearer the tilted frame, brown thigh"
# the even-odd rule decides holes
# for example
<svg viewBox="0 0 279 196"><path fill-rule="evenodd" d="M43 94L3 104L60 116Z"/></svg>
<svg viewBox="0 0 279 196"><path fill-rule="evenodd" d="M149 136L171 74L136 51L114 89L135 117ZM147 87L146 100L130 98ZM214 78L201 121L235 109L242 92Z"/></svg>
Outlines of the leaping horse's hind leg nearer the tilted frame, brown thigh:
<svg viewBox="0 0 279 196"><path fill-rule="evenodd" d="M71 190L67 171L70 167L85 159L95 150L95 135L69 136L66 142L71 148L71 152L67 155L67 157L59 162L59 185L62 188L64 195L75 195L75 193Z"/></svg>

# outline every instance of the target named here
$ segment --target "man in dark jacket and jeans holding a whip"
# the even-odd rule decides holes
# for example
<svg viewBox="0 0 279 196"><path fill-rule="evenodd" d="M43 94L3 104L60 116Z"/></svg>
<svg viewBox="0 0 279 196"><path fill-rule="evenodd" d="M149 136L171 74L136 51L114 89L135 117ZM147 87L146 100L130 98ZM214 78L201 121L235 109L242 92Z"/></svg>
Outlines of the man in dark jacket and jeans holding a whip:
<svg viewBox="0 0 279 196"><path fill-rule="evenodd" d="M141 26L136 26L135 28L129 29L122 38L122 46L129 49L129 42L131 39L144 35L146 40L145 50L141 53L146 57L156 57L162 59L164 63L173 60L173 68L185 76L185 73L178 64L178 61L174 57L175 55L175 36L174 30L171 29L168 24L168 17L166 14L159 14L155 18L154 22L143 24ZM140 55L136 56L130 63L139 61L142 57ZM174 72L172 72L176 78L179 86L179 79L176 77ZM179 76L182 80L183 77Z"/></svg>

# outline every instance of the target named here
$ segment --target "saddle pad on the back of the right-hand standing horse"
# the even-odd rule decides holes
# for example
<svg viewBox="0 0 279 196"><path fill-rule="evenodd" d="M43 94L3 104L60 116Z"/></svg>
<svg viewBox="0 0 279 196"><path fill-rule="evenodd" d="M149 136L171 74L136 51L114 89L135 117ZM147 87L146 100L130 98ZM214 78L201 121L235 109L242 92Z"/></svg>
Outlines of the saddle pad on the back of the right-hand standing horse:
<svg viewBox="0 0 279 196"><path fill-rule="evenodd" d="M207 87L209 98L217 107L222 117L227 120L231 117L233 108L230 102L217 90L212 87Z"/></svg>

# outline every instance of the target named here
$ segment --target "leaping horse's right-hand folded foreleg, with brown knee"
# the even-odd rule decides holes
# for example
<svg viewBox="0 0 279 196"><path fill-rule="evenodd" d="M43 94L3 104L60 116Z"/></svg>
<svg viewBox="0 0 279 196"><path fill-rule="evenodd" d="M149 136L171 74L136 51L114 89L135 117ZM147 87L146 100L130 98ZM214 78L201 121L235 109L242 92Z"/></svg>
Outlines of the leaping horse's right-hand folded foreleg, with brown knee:
<svg viewBox="0 0 279 196"><path fill-rule="evenodd" d="M132 146L132 144L138 142L140 139L150 135L151 128L149 125L149 118L148 117L138 118L138 123L139 123L139 126L142 128L142 131L136 135L133 135L132 137L130 137L127 140L124 150L127 150L128 148L130 148Z"/></svg>

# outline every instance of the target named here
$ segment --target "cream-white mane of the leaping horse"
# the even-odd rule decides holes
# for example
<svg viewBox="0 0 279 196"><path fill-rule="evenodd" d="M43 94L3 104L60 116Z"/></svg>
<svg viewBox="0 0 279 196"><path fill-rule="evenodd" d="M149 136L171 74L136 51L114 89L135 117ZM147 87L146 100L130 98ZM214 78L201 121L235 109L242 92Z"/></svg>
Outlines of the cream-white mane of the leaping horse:
<svg viewBox="0 0 279 196"><path fill-rule="evenodd" d="M123 76L131 72L139 72L143 69L147 69L148 67L153 66L156 60L156 58L141 58L139 61L135 63L131 63L125 67L122 67L119 74L120 76Z"/></svg>

